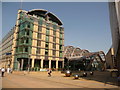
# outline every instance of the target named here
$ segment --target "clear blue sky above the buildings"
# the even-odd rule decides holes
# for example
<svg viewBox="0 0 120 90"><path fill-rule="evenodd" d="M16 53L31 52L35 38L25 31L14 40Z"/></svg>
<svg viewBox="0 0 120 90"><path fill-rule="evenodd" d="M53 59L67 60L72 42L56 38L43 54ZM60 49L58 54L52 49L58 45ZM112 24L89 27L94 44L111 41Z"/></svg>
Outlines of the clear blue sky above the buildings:
<svg viewBox="0 0 120 90"><path fill-rule="evenodd" d="M2 37L17 19L19 2L2 3ZM23 2L23 10L45 9L63 22L65 46L107 53L112 45L107 2Z"/></svg>

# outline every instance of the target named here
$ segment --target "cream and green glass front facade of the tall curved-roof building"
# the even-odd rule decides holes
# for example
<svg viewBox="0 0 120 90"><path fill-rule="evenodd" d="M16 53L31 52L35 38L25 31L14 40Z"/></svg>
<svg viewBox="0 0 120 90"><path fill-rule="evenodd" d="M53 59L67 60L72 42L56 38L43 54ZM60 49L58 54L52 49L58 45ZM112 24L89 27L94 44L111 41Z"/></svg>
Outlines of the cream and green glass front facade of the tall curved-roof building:
<svg viewBox="0 0 120 90"><path fill-rule="evenodd" d="M52 19L53 17L51 15L48 15L50 18L46 19L46 15L43 16L43 13L41 15L40 13L39 15L33 15L30 13L26 14L26 12L22 11L18 14L19 28L17 32L15 62L20 64L20 68L22 59L27 59L27 61L24 61L26 65L23 65L24 69L25 66L27 68L29 58L31 60L33 59L31 58L32 55L36 58L34 58L34 64L30 61L32 64L30 67L50 68L48 65L49 60L54 60L52 64L55 64L53 66L58 68L58 65L56 66L56 61L63 60L64 30L61 28L61 25L59 25L59 22ZM35 14L38 14L38 12ZM41 66L41 57L43 57L43 67ZM39 65L39 62L41 65ZM18 64L15 64L14 68L17 67Z"/></svg>

